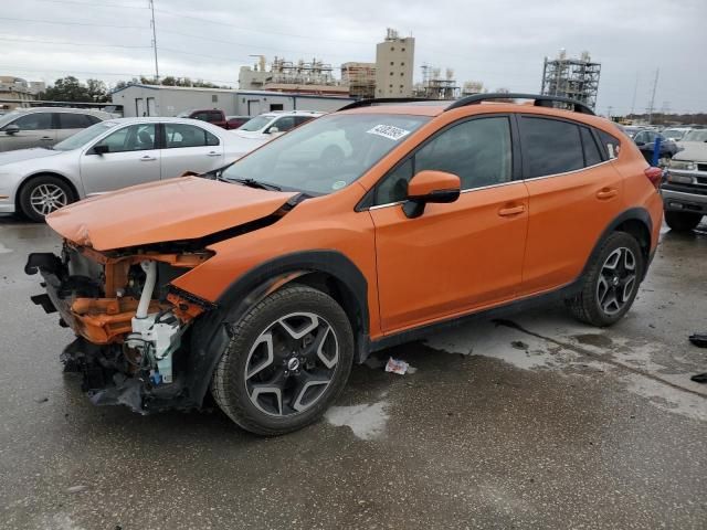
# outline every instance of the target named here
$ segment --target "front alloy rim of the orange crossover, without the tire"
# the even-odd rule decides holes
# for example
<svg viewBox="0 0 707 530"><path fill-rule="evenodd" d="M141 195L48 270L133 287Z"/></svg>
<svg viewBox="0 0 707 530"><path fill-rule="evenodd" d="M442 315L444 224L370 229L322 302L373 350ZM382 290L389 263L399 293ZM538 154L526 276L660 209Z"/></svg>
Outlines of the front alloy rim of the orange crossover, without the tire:
<svg viewBox="0 0 707 530"><path fill-rule="evenodd" d="M255 339L245 361L251 403L272 416L312 407L326 393L339 361L331 325L314 312L278 318Z"/></svg>

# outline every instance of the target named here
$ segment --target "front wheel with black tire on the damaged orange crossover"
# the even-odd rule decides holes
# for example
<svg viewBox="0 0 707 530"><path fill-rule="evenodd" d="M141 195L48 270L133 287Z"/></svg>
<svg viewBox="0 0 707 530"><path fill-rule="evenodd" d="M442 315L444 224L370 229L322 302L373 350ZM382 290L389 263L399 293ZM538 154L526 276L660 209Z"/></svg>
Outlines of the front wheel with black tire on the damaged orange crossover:
<svg viewBox="0 0 707 530"><path fill-rule="evenodd" d="M289 285L233 325L211 392L244 430L285 434L326 412L352 361L354 333L344 309L320 290Z"/></svg>

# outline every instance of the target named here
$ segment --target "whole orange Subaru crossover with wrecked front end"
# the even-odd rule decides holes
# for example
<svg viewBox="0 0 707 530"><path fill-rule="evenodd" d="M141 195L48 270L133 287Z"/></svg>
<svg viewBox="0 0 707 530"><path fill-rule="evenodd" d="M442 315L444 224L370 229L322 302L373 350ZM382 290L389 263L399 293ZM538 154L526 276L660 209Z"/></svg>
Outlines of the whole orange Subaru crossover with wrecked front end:
<svg viewBox="0 0 707 530"><path fill-rule="evenodd" d="M578 102L365 100L211 173L59 210L61 256L27 272L94 403L198 409L210 389L281 434L354 362L465 317L560 297L614 324L655 253L659 179Z"/></svg>

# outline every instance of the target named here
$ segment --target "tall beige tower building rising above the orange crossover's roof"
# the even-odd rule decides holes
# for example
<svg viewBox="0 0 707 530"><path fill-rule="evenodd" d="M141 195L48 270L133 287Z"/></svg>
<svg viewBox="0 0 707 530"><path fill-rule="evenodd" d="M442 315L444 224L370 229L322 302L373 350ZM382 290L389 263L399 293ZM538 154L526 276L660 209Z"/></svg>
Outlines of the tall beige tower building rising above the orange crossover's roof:
<svg viewBox="0 0 707 530"><path fill-rule="evenodd" d="M376 46L376 97L413 95L414 53L414 38L400 38L395 30L388 29L386 40Z"/></svg>

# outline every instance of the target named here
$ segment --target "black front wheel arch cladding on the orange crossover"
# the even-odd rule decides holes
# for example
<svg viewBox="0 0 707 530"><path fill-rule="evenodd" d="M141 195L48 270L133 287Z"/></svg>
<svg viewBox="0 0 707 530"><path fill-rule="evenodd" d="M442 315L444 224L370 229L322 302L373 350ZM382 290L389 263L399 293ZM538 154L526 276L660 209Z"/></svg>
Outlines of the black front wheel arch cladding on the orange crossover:
<svg viewBox="0 0 707 530"><path fill-rule="evenodd" d="M337 251L317 250L276 257L238 277L219 297L217 308L202 315L191 329L191 354L187 371L189 395L201 405L213 371L223 353L230 324L236 322L262 298L293 280L308 284L313 275L336 282L345 312L351 321L356 352L362 362L369 350L368 282L347 256Z"/></svg>

